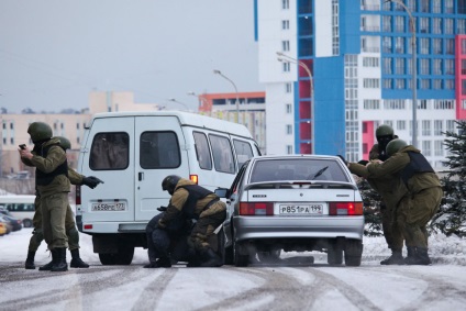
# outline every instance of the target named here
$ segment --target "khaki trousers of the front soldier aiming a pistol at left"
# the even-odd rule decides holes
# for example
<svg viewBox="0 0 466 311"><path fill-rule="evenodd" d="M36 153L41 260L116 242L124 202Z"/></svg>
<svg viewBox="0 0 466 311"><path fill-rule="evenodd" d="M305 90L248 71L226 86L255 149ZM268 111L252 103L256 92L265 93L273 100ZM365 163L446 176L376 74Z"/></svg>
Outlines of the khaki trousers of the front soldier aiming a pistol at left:
<svg viewBox="0 0 466 311"><path fill-rule="evenodd" d="M65 229L67 207L67 192L41 197L42 230L51 251L56 247L68 247Z"/></svg>

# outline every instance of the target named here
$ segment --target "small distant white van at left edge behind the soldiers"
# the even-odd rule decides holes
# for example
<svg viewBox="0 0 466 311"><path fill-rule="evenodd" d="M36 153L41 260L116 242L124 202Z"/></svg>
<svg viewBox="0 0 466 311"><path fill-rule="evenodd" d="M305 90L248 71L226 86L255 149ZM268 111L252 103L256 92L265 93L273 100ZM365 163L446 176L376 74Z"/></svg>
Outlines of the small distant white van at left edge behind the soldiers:
<svg viewBox="0 0 466 311"><path fill-rule="evenodd" d="M27 195L0 196L0 209L8 210L13 218L23 222L24 227L30 227L35 212L34 199L35 196Z"/></svg>

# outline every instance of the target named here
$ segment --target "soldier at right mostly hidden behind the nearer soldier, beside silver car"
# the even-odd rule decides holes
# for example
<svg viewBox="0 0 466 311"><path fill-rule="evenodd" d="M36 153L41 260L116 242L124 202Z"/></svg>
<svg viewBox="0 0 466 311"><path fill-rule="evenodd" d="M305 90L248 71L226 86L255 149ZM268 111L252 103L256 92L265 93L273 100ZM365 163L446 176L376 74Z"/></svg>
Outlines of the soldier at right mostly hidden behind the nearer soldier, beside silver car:
<svg viewBox="0 0 466 311"><path fill-rule="evenodd" d="M381 124L376 130L376 138L377 144L374 144L369 152L369 160L384 162L389 157L386 152L387 144L395 138L398 138L398 136L395 135L393 129L390 125ZM355 165L351 165L348 167L353 174L364 174L364 169L357 169L357 166ZM398 191L401 196L403 196L402 192L404 187L399 181L399 178L393 176L369 178L367 181L370 187L382 197L382 200L380 201L381 227L388 248L391 249L391 256L381 260L380 265L400 265L403 263L402 248L404 238L401 230L393 221L393 211L401 197L393 197L393 191ZM404 191L407 191L406 188Z"/></svg>

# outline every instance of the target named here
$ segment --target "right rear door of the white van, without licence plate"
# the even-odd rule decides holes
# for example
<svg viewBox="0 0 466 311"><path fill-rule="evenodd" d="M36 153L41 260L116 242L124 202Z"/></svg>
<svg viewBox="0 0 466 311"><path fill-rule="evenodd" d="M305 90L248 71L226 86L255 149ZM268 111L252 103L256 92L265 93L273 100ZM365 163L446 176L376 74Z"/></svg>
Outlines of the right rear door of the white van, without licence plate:
<svg viewBox="0 0 466 311"><path fill-rule="evenodd" d="M168 175L189 178L187 145L175 115L135 119L135 220L151 220L157 208L168 206L170 196L162 190Z"/></svg>

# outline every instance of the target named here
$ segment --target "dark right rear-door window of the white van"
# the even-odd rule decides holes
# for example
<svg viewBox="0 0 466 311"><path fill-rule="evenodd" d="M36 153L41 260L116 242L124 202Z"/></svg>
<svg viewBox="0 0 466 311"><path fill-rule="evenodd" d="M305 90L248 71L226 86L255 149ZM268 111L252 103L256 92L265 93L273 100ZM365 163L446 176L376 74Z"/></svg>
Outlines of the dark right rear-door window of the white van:
<svg viewBox="0 0 466 311"><path fill-rule="evenodd" d="M145 169L176 168L181 165L175 132L144 132L140 142L140 165Z"/></svg>

